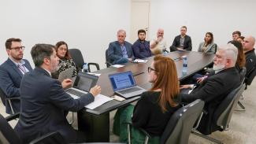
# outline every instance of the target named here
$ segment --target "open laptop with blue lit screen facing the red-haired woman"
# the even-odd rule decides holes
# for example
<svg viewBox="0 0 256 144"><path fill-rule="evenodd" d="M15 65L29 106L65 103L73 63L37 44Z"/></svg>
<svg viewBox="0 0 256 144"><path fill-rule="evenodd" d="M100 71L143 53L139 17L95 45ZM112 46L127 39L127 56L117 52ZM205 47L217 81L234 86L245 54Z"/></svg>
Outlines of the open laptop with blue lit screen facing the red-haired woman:
<svg viewBox="0 0 256 144"><path fill-rule="evenodd" d="M111 74L109 80L113 91L124 98L132 98L146 91L142 87L136 86L131 71Z"/></svg>

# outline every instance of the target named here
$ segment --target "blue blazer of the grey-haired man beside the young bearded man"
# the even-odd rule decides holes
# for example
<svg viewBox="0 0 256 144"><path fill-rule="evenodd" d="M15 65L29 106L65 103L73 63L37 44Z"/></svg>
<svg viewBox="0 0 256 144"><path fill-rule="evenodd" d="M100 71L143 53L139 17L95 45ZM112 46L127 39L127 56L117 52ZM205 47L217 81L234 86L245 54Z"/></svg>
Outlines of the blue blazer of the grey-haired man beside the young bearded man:
<svg viewBox="0 0 256 144"><path fill-rule="evenodd" d="M124 46L126 47L128 58L134 59L132 52L132 44L130 42L124 41ZM112 64L123 57L121 46L118 41L109 43L108 57L110 63Z"/></svg>

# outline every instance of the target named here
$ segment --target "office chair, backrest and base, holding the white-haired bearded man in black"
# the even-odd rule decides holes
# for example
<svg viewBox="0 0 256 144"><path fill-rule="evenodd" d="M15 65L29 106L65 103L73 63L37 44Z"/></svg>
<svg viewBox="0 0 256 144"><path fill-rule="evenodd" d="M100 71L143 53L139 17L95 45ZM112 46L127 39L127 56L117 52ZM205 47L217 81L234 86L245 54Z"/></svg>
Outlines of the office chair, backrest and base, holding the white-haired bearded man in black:
<svg viewBox="0 0 256 144"><path fill-rule="evenodd" d="M233 113L234 107L237 104L237 102L239 101L239 98L242 95L244 88L245 88L245 85L241 84L235 90L232 90L228 94L228 96L226 98L224 98L224 100L221 102L221 104L217 106L217 109L215 109L215 112L213 114L213 123L216 124L218 127L220 127L220 131L228 130L228 124L232 118L232 113ZM205 113L205 112L203 112L203 113ZM206 138L212 142L223 144L223 142L221 142L215 138L211 138L210 136L203 135L203 134L195 131L196 128L198 128L198 125L200 124L201 118L202 118L202 115L200 116L198 123L196 124L196 126L193 128L193 130L191 132L195 135L202 137L202 138ZM209 126L209 127L211 127L211 126Z"/></svg>

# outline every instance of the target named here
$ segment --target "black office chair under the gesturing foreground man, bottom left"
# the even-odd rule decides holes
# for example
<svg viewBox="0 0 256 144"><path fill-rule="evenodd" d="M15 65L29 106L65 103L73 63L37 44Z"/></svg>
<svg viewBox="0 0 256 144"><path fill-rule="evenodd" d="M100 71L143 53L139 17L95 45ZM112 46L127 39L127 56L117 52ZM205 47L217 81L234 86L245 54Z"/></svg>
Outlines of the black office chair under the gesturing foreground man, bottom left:
<svg viewBox="0 0 256 144"><path fill-rule="evenodd" d="M9 125L8 121L17 119L20 116L20 113L16 113L11 116L7 116L4 118L0 114L0 143L9 143L9 144L17 144L21 143L20 137L16 134L13 128ZM58 139L58 132L52 132L47 135L43 135L40 143L49 143L49 144L61 144L63 142L63 138ZM31 143L35 144L38 138L33 140Z"/></svg>

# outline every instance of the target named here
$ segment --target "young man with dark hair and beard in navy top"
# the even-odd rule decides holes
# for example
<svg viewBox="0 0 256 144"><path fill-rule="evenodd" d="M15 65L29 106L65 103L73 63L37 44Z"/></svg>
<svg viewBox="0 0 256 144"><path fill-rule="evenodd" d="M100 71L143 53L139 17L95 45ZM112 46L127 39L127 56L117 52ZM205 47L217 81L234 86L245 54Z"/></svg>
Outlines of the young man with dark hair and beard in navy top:
<svg viewBox="0 0 256 144"><path fill-rule="evenodd" d="M146 31L140 29L138 31L139 39L132 45L132 50L135 58L143 59L146 57L151 57L152 53L150 50L150 42L146 41Z"/></svg>

